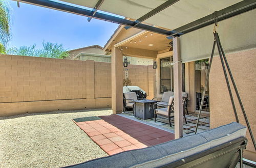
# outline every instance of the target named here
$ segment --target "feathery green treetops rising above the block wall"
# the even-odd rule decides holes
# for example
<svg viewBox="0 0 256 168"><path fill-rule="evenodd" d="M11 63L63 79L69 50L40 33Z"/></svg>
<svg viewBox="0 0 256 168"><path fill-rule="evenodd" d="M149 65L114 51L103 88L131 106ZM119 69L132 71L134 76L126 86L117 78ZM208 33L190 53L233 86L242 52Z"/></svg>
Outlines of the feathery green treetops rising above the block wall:
<svg viewBox="0 0 256 168"><path fill-rule="evenodd" d="M63 48L62 44L42 42L42 49L36 49L36 44L32 46L21 46L19 48L9 48L7 53L14 55L46 57L46 58L59 58L64 59L68 57L69 52Z"/></svg>

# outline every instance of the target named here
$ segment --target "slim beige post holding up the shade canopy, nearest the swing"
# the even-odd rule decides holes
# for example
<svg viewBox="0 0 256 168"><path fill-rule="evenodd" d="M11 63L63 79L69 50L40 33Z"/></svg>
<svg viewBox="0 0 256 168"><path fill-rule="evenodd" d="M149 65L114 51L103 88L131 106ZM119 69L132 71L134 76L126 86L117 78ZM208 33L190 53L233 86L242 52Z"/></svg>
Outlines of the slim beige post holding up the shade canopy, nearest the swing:
<svg viewBox="0 0 256 168"><path fill-rule="evenodd" d="M180 38L173 38L174 58L174 126L175 139L183 136L183 108L182 108L182 72L180 55Z"/></svg>

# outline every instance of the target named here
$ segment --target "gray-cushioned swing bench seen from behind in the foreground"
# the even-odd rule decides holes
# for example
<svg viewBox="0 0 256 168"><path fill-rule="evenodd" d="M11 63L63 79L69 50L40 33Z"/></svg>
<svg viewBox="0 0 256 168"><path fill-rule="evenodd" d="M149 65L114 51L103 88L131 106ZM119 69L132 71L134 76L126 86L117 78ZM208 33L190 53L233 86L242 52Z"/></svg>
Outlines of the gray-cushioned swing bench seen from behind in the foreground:
<svg viewBox="0 0 256 168"><path fill-rule="evenodd" d="M67 167L208 167L234 168L243 162L246 127L230 123L155 146L124 151ZM242 164L240 164L240 167Z"/></svg>

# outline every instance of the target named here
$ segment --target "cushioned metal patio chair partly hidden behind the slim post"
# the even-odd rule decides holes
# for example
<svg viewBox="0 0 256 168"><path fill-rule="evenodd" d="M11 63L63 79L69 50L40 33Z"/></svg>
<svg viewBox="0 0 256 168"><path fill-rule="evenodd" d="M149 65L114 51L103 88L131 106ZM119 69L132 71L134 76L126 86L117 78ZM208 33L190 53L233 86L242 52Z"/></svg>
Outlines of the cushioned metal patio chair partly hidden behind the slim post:
<svg viewBox="0 0 256 168"><path fill-rule="evenodd" d="M183 107L182 111L183 111L183 116L184 116L185 123L187 124L186 115L185 115L185 103L186 103L186 101L187 101L187 96L186 97L182 96L182 107ZM153 105L153 108L154 108L154 111L155 111L154 112L155 113L154 114L155 122L156 122L157 115L163 116L163 117L168 118L170 127L172 127L172 124L170 123L170 118L172 118L173 116L170 116L170 115L172 113L174 113L174 96L170 96L167 107L157 108L157 103L155 103ZM161 122L161 121L159 121L159 122Z"/></svg>

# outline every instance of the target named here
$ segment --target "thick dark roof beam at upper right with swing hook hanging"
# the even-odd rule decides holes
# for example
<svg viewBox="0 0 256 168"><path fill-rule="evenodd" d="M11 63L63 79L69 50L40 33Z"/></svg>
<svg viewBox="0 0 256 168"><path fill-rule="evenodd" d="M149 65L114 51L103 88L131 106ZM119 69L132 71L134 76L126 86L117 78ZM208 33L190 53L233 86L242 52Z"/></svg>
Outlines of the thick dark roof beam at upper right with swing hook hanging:
<svg viewBox="0 0 256 168"><path fill-rule="evenodd" d="M256 8L256 1L255 0L244 0L237 4L231 5L227 8L224 8L222 10L219 10L216 12L216 17L218 21L230 18L232 16L239 15L241 13L247 12L249 10ZM181 36L183 34L201 29L202 27L205 27L207 25L214 24L214 13L207 15L205 17L202 17L198 20L195 20L193 22L190 22L188 24L185 24L172 32L170 36Z"/></svg>

